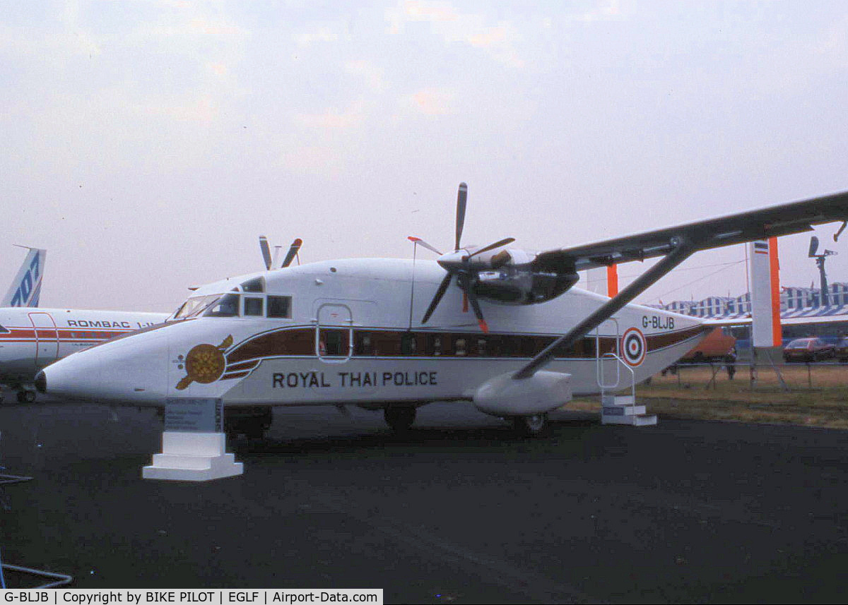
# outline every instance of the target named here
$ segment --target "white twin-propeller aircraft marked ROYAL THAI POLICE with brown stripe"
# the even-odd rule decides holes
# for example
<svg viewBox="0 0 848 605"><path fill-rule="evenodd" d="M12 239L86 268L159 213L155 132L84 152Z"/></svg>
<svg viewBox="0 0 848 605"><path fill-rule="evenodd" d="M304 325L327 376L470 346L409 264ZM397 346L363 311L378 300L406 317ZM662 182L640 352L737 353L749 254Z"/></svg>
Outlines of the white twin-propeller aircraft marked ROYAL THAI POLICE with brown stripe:
<svg viewBox="0 0 848 605"><path fill-rule="evenodd" d="M440 254L435 262L351 258L218 281L165 325L50 365L36 387L133 406L220 398L227 432L248 436L271 424L273 406L382 409L404 430L417 407L445 400L538 433L572 393L638 383L706 335L697 318L631 303L689 255L848 219L845 192L530 253L512 238L461 246L466 191L460 184L453 252L410 237ZM573 287L578 270L653 257L615 297ZM625 380L613 380L622 369Z"/></svg>

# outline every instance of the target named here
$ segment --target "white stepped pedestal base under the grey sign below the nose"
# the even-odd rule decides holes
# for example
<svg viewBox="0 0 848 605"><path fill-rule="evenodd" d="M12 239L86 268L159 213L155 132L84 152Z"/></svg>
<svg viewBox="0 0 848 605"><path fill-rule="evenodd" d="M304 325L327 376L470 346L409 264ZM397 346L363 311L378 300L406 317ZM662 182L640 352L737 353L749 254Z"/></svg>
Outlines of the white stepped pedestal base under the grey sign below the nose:
<svg viewBox="0 0 848 605"><path fill-rule="evenodd" d="M244 473L244 464L225 452L224 433L162 433L162 453L142 469L144 479L209 481Z"/></svg>

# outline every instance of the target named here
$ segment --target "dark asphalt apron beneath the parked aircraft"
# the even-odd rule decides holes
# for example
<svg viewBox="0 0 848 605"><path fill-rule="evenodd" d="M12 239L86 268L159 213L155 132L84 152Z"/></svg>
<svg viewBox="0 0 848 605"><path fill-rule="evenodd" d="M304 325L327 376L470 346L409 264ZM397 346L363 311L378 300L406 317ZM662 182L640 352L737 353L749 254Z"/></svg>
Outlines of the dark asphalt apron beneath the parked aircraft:
<svg viewBox="0 0 848 605"><path fill-rule="evenodd" d="M142 480L150 411L0 406L4 563L79 588L383 588L386 602L845 602L848 431L435 403L276 412L241 477ZM6 574L9 586L31 586Z"/></svg>

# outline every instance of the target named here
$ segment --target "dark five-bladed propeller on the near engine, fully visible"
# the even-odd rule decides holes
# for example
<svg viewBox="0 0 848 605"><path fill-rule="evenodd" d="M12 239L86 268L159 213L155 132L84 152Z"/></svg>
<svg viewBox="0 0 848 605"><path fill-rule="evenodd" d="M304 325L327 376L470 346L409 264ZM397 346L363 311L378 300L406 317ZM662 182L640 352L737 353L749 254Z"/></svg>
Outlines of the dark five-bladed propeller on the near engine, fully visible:
<svg viewBox="0 0 848 605"><path fill-rule="evenodd" d="M432 301L430 301L430 306L427 307L427 312L424 314L424 319L421 319L422 324L426 324L427 320L430 319L433 312L435 312L438 307L438 303L442 301L442 297L444 297L444 293L448 291L448 286L450 286L450 280L453 279L454 275L456 275L456 285L460 286L460 289L463 293L463 310L467 310L466 301L471 303L471 309L474 311L475 317L477 317L477 325L480 326L480 329L483 332L488 332L488 325L486 324L486 319L483 318L483 310L480 308L480 303L477 300L477 294L474 293L474 281L477 279L477 271L483 269L488 270L492 269L488 265L480 265L478 268L471 266L471 258L476 257L478 254L487 253L489 250L494 250L494 248L498 248L501 246L506 246L507 244L516 241L514 237L505 237L502 240L495 241L494 243L488 244L488 246L484 246L473 252L469 253L467 250L462 250L460 248L460 242L462 241L462 228L466 223L466 203L468 201L468 186L466 183L460 183L460 190L456 195L456 230L455 230L455 242L454 242L454 252L448 254L440 253L435 247L432 247L426 241L422 240L420 237L410 236L408 239L414 242L416 245L421 245L422 247L426 247L427 250L430 250L433 253L437 253L439 258L437 259L437 263L447 271L447 275L444 276L441 283L438 285L438 289L436 290L435 295L432 297ZM508 260L508 258L507 258ZM499 259L499 265L502 266L505 264L506 260Z"/></svg>

